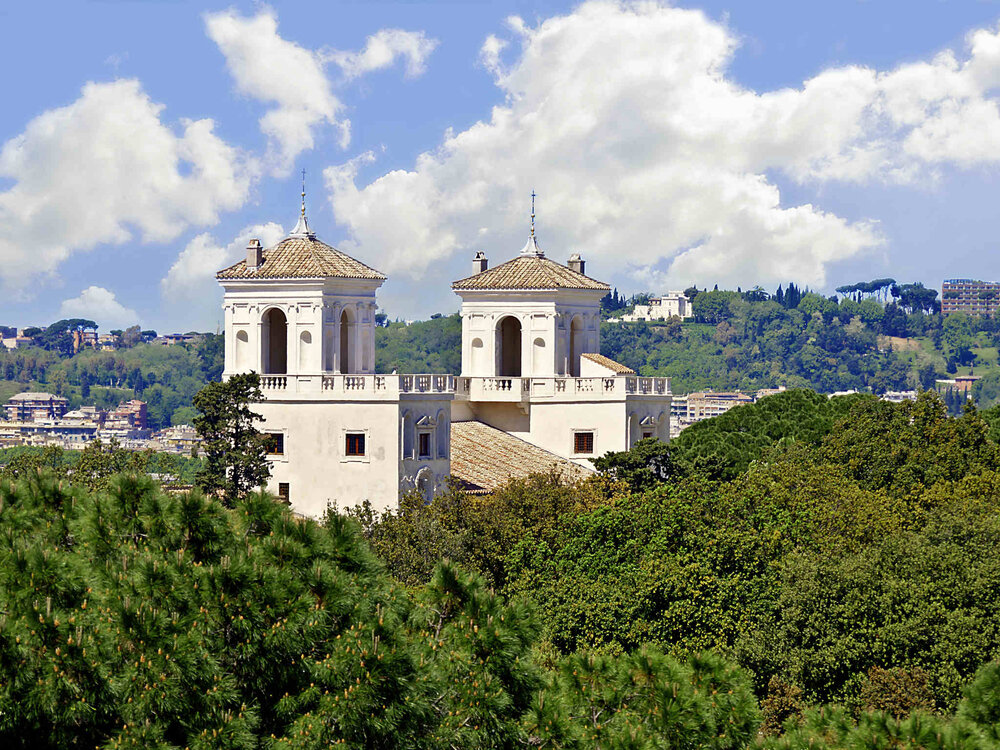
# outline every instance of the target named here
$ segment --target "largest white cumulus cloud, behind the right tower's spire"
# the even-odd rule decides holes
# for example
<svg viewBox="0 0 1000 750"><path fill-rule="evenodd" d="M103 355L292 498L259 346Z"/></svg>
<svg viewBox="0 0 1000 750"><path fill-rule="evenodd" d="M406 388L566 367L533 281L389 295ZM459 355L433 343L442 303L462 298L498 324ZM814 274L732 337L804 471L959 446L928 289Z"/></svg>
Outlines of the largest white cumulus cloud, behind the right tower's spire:
<svg viewBox="0 0 1000 750"><path fill-rule="evenodd" d="M488 120L367 184L372 154L325 171L344 249L413 276L459 251L500 260L523 244L536 188L550 254L663 285L821 287L831 263L883 242L877 222L785 205L771 175L911 182L1000 159L996 31L972 34L963 60L837 67L757 92L728 73L736 34L700 11L602 0L508 27L513 45L491 36L480 52L504 96Z"/></svg>

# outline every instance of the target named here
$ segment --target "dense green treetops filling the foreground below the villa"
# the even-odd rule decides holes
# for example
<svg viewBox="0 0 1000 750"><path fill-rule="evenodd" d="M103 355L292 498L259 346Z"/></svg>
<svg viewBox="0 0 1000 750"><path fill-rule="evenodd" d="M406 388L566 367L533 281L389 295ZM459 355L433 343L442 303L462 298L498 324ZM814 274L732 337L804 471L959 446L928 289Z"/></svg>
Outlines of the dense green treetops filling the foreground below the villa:
<svg viewBox="0 0 1000 750"><path fill-rule="evenodd" d="M322 523L114 451L8 469L0 742L1000 747L995 415L725 417L577 485Z"/></svg>

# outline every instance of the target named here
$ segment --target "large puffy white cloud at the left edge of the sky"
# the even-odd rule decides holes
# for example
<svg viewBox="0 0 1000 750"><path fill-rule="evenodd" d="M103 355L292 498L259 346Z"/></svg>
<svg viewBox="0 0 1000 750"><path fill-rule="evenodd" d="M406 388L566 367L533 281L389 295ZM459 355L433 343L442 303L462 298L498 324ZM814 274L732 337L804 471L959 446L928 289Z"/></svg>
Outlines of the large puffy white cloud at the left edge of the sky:
<svg viewBox="0 0 1000 750"><path fill-rule="evenodd" d="M0 148L0 288L32 280L74 252L138 236L162 242L216 223L247 198L247 159L211 120L161 119L138 81L89 83Z"/></svg>

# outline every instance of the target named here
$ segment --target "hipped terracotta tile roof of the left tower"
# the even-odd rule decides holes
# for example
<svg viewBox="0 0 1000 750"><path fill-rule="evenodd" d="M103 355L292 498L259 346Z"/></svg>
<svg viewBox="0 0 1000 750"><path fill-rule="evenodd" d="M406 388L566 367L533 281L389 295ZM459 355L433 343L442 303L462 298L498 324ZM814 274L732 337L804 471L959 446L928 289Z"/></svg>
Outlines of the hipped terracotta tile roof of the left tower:
<svg viewBox="0 0 1000 750"><path fill-rule="evenodd" d="M373 279L385 276L359 260L320 242L312 236L287 237L264 251L257 268L247 268L246 259L219 271L217 279Z"/></svg>

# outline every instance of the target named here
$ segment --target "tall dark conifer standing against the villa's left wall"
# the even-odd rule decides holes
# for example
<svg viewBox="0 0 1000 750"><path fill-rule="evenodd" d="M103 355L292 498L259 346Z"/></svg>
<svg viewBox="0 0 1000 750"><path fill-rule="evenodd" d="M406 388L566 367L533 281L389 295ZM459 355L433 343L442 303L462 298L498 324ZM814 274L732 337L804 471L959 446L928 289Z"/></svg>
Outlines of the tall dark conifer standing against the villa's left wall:
<svg viewBox="0 0 1000 750"><path fill-rule="evenodd" d="M262 400L255 372L209 383L194 397L194 407L201 412L194 426L205 453L197 484L205 492L222 491L230 506L271 476L267 437L255 426L264 419L250 408Z"/></svg>

